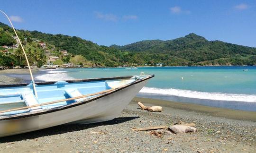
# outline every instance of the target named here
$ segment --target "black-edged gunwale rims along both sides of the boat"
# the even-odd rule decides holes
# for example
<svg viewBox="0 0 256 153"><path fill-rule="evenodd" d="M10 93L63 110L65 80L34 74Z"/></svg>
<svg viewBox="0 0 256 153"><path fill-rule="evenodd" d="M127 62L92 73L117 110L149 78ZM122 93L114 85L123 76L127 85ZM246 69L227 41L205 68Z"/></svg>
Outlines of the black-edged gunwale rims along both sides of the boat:
<svg viewBox="0 0 256 153"><path fill-rule="evenodd" d="M76 106L79 106L79 105L82 105L82 104L93 102L93 101L95 101L97 99L100 99L100 98L105 97L107 95L110 95L112 93L116 93L116 92L118 92L118 91L120 91L122 89L125 89L125 88L127 88L127 87L129 87L131 85L135 85L135 84L138 84L138 83L143 82L145 80L148 80L148 79L150 79L150 78L152 78L154 76L155 76L154 74L146 75L146 77L143 78L143 79L137 79L136 81L134 81L132 83L129 83L129 84L125 85L125 86L122 86L122 87L119 87L119 88L115 88L114 90L112 90L110 92L107 92L107 93L104 93L104 94L99 94L98 96L91 97L91 98L86 99L86 100L84 100L82 102L73 102L73 103L70 103L68 105L59 106L59 107L55 107L55 108L51 108L51 109L47 109L47 110L39 110L39 111L34 111L34 112L25 112L25 113L14 114L14 115L9 115L9 116L0 116L0 121L1 120L10 120L10 119L22 119L22 118L27 118L27 117L47 114L47 113L51 113L51 112L55 112L55 111L59 111L59 110L65 110L65 109L69 109L69 108L72 108L72 107L76 107ZM64 81L69 82L69 83L78 83L78 82L89 82L89 81L126 79L126 78L130 78L130 77L132 77L132 76L116 76L116 77L81 79L81 80L64 80ZM54 84L54 83L56 83L56 82L42 82L42 83L40 83L40 85L51 85L51 84ZM18 85L21 85L21 84L18 84ZM22 86L25 86L25 85L29 85L29 84L22 84Z"/></svg>

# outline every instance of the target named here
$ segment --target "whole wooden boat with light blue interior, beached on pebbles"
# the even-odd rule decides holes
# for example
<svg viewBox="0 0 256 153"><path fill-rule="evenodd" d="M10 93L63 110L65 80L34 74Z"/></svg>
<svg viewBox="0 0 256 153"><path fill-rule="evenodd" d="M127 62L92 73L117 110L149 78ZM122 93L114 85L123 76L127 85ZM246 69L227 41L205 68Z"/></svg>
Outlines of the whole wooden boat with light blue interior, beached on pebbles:
<svg viewBox="0 0 256 153"><path fill-rule="evenodd" d="M116 118L154 75L0 85L0 137ZM18 108L17 108L18 107Z"/></svg>

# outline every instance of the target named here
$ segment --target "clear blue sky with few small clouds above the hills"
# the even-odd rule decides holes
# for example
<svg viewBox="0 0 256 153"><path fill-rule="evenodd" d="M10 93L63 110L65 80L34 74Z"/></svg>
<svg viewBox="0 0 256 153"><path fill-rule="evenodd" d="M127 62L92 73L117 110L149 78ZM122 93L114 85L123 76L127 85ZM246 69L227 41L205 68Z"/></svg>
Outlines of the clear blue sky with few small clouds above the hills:
<svg viewBox="0 0 256 153"><path fill-rule="evenodd" d="M79 36L99 45L189 33L256 47L256 0L1 0L18 29ZM0 22L8 24L1 15Z"/></svg>

